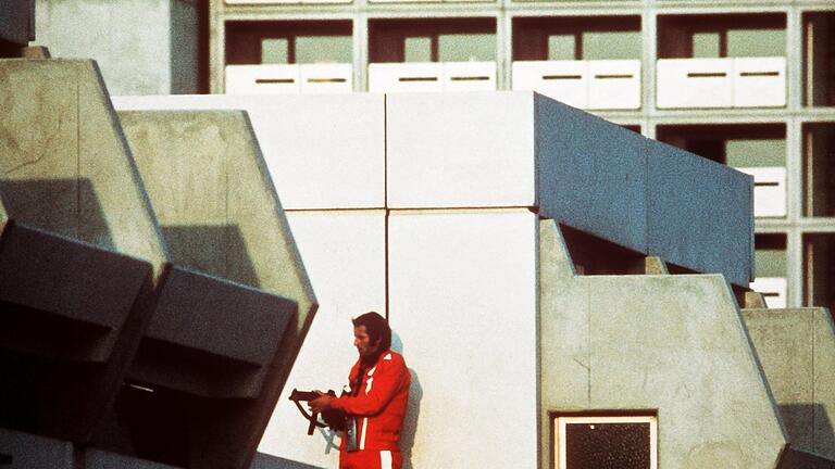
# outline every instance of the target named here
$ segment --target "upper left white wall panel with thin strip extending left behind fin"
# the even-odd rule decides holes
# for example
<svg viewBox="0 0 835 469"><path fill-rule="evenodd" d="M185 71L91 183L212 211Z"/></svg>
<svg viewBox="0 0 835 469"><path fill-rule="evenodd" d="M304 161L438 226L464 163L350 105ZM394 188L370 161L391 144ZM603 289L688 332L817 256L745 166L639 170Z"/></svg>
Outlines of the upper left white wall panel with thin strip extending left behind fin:
<svg viewBox="0 0 835 469"><path fill-rule="evenodd" d="M245 110L285 210L385 206L384 97L115 97L116 110Z"/></svg>

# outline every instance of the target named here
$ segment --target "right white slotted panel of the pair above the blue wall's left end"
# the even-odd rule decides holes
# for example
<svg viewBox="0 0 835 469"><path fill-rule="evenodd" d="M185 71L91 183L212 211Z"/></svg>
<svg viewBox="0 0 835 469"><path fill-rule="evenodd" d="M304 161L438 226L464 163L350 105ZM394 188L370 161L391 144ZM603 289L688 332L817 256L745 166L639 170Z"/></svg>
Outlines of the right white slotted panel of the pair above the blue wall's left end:
<svg viewBox="0 0 835 469"><path fill-rule="evenodd" d="M589 61L588 109L640 109L640 61Z"/></svg>

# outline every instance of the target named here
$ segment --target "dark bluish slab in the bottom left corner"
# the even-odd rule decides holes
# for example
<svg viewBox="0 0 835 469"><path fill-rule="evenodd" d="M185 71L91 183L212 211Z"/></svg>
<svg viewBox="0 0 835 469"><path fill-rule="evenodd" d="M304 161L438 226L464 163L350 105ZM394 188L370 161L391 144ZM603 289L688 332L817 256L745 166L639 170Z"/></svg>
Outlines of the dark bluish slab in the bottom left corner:
<svg viewBox="0 0 835 469"><path fill-rule="evenodd" d="M0 428L0 455L11 456L3 469L73 469L73 445Z"/></svg>

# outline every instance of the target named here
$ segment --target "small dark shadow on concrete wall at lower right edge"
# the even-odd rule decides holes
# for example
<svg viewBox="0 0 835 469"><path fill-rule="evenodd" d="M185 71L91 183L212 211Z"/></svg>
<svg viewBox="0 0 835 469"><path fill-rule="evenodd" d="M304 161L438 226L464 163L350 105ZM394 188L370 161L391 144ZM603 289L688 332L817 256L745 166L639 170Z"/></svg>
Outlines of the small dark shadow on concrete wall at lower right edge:
<svg viewBox="0 0 835 469"><path fill-rule="evenodd" d="M815 447L821 455L827 455L835 446L835 430L826 408L817 403L781 404L780 415L795 448ZM826 452L830 449L830 452Z"/></svg>

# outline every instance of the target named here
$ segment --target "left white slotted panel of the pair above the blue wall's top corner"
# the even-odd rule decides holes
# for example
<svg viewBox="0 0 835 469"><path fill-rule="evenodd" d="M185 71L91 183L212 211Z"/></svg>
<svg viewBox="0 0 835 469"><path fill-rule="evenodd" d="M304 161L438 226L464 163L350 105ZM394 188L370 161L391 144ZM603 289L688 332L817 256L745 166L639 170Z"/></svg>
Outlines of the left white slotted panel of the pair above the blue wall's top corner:
<svg viewBox="0 0 835 469"><path fill-rule="evenodd" d="M513 62L513 90L536 91L577 109L588 107L588 62Z"/></svg>

